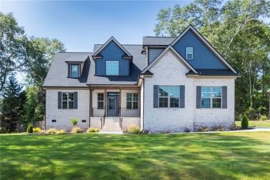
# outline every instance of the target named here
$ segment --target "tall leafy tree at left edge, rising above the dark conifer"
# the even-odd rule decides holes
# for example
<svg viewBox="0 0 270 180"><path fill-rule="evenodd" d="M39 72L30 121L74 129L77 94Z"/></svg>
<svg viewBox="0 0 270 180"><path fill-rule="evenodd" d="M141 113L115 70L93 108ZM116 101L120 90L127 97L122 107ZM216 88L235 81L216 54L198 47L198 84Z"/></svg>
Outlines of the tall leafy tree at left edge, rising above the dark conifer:
<svg viewBox="0 0 270 180"><path fill-rule="evenodd" d="M0 12L0 93L8 75L14 71L23 71L26 60L26 42L24 28L17 24L12 13Z"/></svg>

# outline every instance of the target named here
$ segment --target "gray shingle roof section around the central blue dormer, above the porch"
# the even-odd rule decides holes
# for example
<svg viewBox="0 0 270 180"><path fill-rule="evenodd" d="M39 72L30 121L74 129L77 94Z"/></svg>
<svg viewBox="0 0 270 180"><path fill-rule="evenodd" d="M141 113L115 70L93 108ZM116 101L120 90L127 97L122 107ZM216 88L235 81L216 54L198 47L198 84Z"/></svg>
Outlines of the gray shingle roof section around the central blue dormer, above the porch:
<svg viewBox="0 0 270 180"><path fill-rule="evenodd" d="M93 52L98 51L102 45L95 45ZM95 64L92 58L87 84L90 85L134 85L138 80L138 74L145 68L145 55L141 54L142 45L122 45L132 56L132 64L129 76L98 76L95 75Z"/></svg>

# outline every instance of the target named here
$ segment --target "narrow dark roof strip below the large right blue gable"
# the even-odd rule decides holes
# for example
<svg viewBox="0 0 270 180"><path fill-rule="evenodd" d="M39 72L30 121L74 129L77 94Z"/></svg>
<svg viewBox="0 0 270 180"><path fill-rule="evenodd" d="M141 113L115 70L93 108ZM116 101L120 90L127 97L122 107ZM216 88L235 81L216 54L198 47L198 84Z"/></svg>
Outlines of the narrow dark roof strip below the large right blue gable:
<svg viewBox="0 0 270 180"><path fill-rule="evenodd" d="M196 71L198 72L199 75L224 75L224 76L239 75L238 73L234 73L230 69L196 69ZM189 71L187 74L198 75L193 71Z"/></svg>

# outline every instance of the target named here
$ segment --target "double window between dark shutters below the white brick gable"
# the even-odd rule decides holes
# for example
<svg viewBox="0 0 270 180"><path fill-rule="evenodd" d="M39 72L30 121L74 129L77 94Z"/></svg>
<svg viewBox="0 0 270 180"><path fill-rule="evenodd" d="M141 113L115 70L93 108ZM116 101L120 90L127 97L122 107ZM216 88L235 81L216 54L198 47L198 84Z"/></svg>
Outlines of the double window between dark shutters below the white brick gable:
<svg viewBox="0 0 270 180"><path fill-rule="evenodd" d="M159 107L179 107L180 87L159 87Z"/></svg>

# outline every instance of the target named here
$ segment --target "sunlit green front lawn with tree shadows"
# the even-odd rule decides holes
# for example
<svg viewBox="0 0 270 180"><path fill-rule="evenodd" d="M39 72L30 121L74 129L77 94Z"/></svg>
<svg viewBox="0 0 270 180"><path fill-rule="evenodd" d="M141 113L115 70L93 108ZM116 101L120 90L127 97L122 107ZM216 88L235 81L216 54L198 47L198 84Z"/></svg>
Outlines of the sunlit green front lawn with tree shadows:
<svg viewBox="0 0 270 180"><path fill-rule="evenodd" d="M0 138L1 179L270 177L270 132Z"/></svg>

